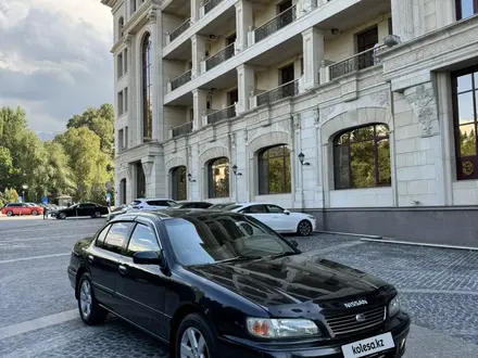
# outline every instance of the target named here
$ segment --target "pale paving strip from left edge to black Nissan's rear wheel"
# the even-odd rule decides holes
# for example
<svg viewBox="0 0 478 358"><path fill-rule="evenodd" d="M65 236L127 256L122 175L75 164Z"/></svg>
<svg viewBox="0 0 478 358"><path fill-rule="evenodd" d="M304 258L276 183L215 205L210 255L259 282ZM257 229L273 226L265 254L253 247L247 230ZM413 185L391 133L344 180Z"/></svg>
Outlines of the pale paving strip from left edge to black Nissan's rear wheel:
<svg viewBox="0 0 478 358"><path fill-rule="evenodd" d="M60 314L43 316L30 321L2 327L0 328L0 341L22 333L27 333L38 329L71 321L75 318L78 318L78 310L71 309Z"/></svg>

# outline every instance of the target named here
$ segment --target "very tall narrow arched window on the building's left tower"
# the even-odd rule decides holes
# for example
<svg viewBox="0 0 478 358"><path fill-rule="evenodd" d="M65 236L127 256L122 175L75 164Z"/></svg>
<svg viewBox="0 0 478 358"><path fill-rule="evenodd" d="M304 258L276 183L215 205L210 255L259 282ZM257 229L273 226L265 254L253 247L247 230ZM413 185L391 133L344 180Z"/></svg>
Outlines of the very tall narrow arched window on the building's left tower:
<svg viewBox="0 0 478 358"><path fill-rule="evenodd" d="M152 59L151 59L151 36L146 34L142 39L142 136L148 142L152 138L153 107L151 103L152 90Z"/></svg>

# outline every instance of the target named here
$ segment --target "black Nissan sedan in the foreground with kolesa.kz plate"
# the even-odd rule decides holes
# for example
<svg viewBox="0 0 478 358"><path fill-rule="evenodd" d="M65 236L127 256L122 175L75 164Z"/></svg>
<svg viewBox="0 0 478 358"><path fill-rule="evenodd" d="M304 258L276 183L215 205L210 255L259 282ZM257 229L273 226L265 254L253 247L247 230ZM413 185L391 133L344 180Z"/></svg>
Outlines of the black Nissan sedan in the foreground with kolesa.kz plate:
<svg viewBox="0 0 478 358"><path fill-rule="evenodd" d="M67 273L85 323L113 312L174 358L405 351L411 320L392 285L241 214L127 213L75 244Z"/></svg>

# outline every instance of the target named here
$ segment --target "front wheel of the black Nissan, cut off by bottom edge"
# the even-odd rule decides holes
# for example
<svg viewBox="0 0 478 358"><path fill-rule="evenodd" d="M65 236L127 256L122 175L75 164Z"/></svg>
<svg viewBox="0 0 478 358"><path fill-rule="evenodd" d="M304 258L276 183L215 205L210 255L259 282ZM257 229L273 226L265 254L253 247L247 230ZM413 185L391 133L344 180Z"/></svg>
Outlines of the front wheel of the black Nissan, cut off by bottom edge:
<svg viewBox="0 0 478 358"><path fill-rule="evenodd" d="M194 344L191 343L191 335L196 337L198 346L194 347L199 353L198 357L202 357L201 353L207 358L218 358L217 347L214 338L214 334L211 331L205 319L199 314L191 314L186 316L176 331L176 343L175 343L175 358L181 357L181 348L192 347ZM201 337L204 340L203 348L206 350L201 351L201 346L199 343L202 342ZM198 349L199 348L199 349Z"/></svg>

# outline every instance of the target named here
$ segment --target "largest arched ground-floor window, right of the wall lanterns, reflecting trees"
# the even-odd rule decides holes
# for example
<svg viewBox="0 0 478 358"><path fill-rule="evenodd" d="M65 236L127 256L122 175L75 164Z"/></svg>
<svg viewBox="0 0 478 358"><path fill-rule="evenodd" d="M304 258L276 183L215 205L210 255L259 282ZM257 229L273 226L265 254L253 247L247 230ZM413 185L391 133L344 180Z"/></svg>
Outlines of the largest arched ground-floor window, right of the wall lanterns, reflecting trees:
<svg viewBox="0 0 478 358"><path fill-rule="evenodd" d="M389 129L386 125L354 128L334 141L336 189L391 184Z"/></svg>

